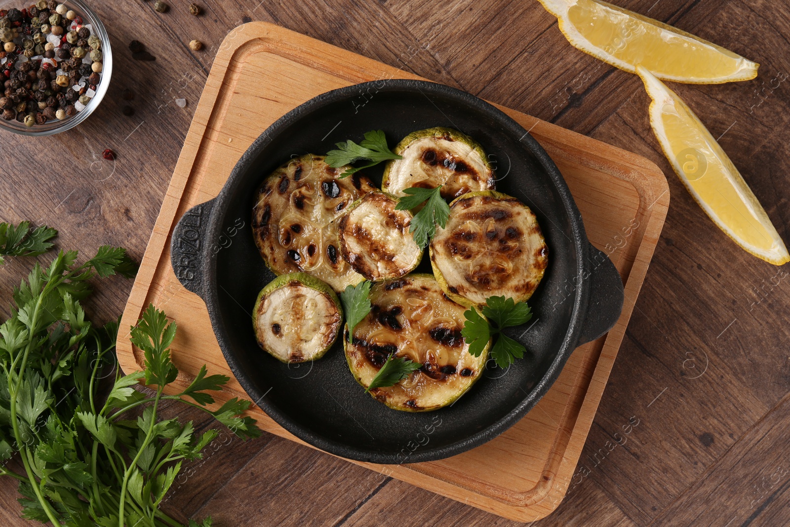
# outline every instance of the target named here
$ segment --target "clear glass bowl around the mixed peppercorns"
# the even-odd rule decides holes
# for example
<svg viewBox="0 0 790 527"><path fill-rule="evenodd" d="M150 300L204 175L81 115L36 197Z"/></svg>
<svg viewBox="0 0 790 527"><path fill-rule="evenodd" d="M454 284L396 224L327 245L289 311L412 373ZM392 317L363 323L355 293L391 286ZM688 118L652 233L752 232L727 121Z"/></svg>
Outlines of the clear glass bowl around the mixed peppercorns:
<svg viewBox="0 0 790 527"><path fill-rule="evenodd" d="M0 9L11 9L13 7L17 9L28 8L35 3L36 2L32 2L32 0L0 0ZM62 121L52 119L51 121L45 122L43 125L34 125L28 128L28 126L24 126L24 123L18 122L17 120L6 121L5 119L0 119L0 128L2 128L2 130L9 130L14 134L22 135L60 134L61 132L72 129L74 126L85 121L85 119L88 119L88 115L91 115L96 107L99 106L104 98L104 94L107 93L107 88L110 86L110 77L112 75L112 50L110 48L110 37L107 35L107 29L104 28L104 24L101 23L99 17L96 16L96 13L89 8L85 2L81 0L66 0L66 2L61 3L66 4L66 7L73 9L77 15L81 16L83 25L91 24L92 35L98 36L101 40L102 70L101 80L99 84L96 85L96 95L92 97L82 111L77 112L77 115L67 117ZM2 78L5 80L5 77ZM2 96L2 90L0 90L0 96Z"/></svg>

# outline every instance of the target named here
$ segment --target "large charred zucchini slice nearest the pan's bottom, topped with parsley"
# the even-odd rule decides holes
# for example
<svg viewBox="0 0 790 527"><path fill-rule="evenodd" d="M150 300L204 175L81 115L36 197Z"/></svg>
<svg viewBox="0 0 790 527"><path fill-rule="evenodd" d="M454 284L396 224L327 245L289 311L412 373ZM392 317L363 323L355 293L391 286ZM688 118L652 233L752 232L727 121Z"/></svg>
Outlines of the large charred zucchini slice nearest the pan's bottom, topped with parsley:
<svg viewBox="0 0 790 527"><path fill-rule="evenodd" d="M371 288L371 312L354 328L344 348L354 378L367 388L387 357L423 364L394 386L371 395L389 408L427 412L450 405L483 373L488 346L480 356L468 352L461 337L465 307L442 293L430 274L410 274Z"/></svg>

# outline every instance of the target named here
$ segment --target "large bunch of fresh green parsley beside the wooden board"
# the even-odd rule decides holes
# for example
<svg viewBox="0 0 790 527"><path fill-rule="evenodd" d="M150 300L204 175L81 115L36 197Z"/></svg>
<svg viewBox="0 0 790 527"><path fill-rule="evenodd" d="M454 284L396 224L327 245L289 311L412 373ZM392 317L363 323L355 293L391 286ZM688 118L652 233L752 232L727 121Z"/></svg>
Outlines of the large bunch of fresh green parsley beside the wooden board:
<svg viewBox="0 0 790 527"><path fill-rule="evenodd" d="M115 371L109 394L100 397L107 392L100 389L103 372L116 362L119 324L92 326L80 300L93 277L135 272L119 247L101 247L83 264L77 264L76 251L60 252L46 269L36 263L13 292L11 316L0 326L0 475L19 480L23 518L55 527L178 527L160 503L182 460L201 457L216 431L198 437L191 422L160 420L160 401L191 397L195 403L183 402L205 409L239 437L260 435L254 420L242 416L249 401L232 399L216 412L204 408L213 403L204 390L220 390L228 381L224 375L207 377L203 367L182 393L163 394L178 374L168 348L175 323L154 307L131 330L145 354L145 373ZM141 378L154 395L134 390ZM124 418L142 406L136 420ZM21 473L9 467L14 454ZM190 520L191 527L199 525L211 525L211 519Z"/></svg>

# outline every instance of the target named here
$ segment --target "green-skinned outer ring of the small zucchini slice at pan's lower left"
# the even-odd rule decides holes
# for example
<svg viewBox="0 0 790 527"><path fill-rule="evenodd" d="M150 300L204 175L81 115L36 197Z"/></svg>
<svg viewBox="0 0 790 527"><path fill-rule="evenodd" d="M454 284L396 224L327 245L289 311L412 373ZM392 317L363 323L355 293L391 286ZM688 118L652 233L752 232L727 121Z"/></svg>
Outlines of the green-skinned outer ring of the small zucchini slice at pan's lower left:
<svg viewBox="0 0 790 527"><path fill-rule="evenodd" d="M329 307L333 307L335 310L335 314L329 314L333 319L331 322L331 327L329 330L329 335L325 338L322 342L322 347L318 350L318 352L312 353L310 356L302 356L299 358L298 356L292 356L289 354L288 358L284 356L278 355L276 352L273 351L272 348L267 346L265 343L267 341L267 336L265 335L265 331L269 331L269 327L262 328L260 326L259 317L261 314L263 303L265 299L272 295L274 292L279 290L280 288L287 288L289 286L301 286L302 288L310 288L318 293L320 293L324 298L329 299ZM297 317L298 313L292 313L294 317ZM255 332L255 340L258 341L258 345L263 349L265 352L269 353L269 355L273 356L275 359L280 360L283 363L300 363L300 362L307 362L311 360L317 360L322 358L329 348L332 348L332 345L337 341L337 336L340 334L340 323L343 320L343 307L340 303L340 299L337 297L335 292L329 284L326 284L322 280L318 280L318 278L311 277L307 273L288 273L284 275L280 275L276 277L274 280L266 284L266 286L261 289L261 292L258 293L258 298L255 300L255 305L253 308L253 315L252 315L252 323L253 329ZM285 328L287 331L288 328Z"/></svg>

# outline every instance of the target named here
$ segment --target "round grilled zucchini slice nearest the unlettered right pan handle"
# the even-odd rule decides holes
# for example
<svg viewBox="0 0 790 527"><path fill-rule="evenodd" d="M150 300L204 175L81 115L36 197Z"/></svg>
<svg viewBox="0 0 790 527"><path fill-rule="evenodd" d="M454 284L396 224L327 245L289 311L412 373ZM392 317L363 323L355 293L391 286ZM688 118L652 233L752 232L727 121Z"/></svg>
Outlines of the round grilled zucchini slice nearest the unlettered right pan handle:
<svg viewBox="0 0 790 527"><path fill-rule="evenodd" d="M436 280L450 298L482 306L489 296L529 299L548 265L548 247L527 205L491 190L450 203L429 246Z"/></svg>

